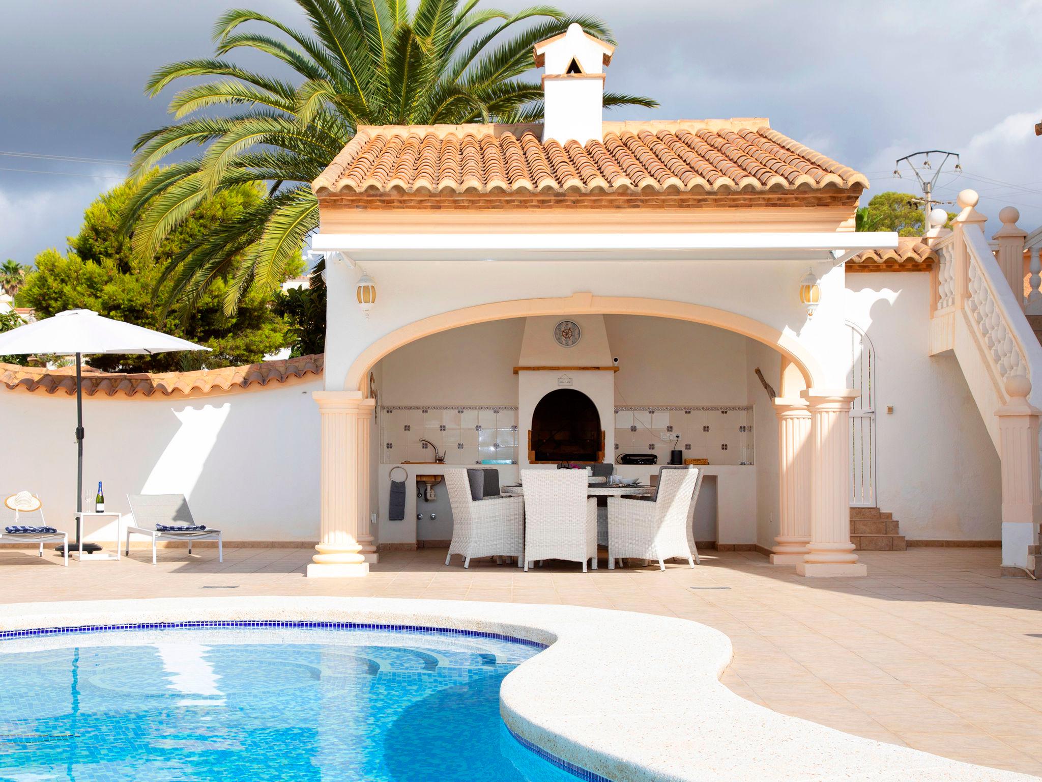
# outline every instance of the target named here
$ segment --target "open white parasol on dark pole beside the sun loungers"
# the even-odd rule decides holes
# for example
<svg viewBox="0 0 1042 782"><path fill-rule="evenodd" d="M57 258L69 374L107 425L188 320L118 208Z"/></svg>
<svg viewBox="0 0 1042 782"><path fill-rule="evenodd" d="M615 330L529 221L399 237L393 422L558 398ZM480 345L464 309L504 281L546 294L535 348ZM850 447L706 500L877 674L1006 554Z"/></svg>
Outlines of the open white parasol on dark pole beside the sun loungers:
<svg viewBox="0 0 1042 782"><path fill-rule="evenodd" d="M194 342L151 328L103 318L93 310L69 310L35 323L0 334L0 356L52 353L76 357L76 513L83 510L83 383L81 357L97 353L164 353L173 350L209 350ZM80 524L76 517L76 542ZM84 551L97 551L93 543Z"/></svg>

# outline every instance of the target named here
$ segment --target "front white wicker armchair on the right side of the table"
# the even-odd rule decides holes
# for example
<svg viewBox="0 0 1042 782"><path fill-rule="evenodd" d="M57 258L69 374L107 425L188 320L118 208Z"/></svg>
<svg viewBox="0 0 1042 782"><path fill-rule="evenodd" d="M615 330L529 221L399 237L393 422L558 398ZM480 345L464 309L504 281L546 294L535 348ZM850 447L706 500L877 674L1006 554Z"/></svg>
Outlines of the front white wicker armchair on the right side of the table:
<svg viewBox="0 0 1042 782"><path fill-rule="evenodd" d="M654 502L609 497L607 566L626 557L656 560L687 559L695 566L694 533L690 522L699 470L665 469L659 478Z"/></svg>

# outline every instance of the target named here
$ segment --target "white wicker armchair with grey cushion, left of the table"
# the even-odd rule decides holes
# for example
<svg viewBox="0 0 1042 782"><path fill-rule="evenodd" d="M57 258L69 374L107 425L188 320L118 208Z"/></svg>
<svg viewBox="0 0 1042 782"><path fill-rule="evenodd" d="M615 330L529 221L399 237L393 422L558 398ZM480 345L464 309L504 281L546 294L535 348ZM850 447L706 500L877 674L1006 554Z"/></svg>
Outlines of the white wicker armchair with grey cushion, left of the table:
<svg viewBox="0 0 1042 782"><path fill-rule="evenodd" d="M445 486L452 507L452 542L445 564L458 554L464 567L470 567L475 557L517 557L520 567L524 556L524 499L474 499L466 469L445 470Z"/></svg>

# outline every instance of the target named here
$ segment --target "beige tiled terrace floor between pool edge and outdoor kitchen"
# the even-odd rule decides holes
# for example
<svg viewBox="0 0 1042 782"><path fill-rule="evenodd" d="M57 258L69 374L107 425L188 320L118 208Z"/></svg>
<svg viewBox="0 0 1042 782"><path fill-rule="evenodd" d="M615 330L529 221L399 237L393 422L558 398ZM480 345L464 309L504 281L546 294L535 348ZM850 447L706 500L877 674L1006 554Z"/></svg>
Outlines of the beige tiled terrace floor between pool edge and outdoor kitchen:
<svg viewBox="0 0 1042 782"><path fill-rule="evenodd" d="M527 573L444 549L382 555L367 579L306 580L311 551L144 552L55 566L0 549L0 600L215 594L374 595L566 603L694 619L730 637L723 681L776 711L959 760L1042 776L1042 582L996 578L998 551L865 552L865 579L807 580L759 554ZM611 639L605 638L610 653ZM683 693L649 693L683 698Z"/></svg>

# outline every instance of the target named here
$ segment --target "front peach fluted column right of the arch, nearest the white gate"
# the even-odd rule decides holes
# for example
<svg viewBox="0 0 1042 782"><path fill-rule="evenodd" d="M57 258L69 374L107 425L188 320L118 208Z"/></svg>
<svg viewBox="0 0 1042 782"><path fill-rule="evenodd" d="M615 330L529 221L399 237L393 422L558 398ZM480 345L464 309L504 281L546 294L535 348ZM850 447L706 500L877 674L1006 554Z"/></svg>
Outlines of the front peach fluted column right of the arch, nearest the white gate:
<svg viewBox="0 0 1042 782"><path fill-rule="evenodd" d="M866 576L850 542L850 404L855 389L809 389L811 412L811 542L800 576Z"/></svg>

